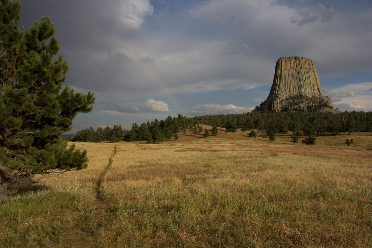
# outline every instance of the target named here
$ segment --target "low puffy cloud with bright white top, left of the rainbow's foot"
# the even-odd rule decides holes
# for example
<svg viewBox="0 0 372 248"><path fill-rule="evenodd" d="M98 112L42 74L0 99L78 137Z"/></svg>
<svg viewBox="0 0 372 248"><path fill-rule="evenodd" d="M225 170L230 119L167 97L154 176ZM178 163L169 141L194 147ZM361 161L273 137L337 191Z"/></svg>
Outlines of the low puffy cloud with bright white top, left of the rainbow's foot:
<svg viewBox="0 0 372 248"><path fill-rule="evenodd" d="M154 99L148 99L144 103L134 102L115 102L113 104L103 104L107 109L111 111L102 111L102 113L149 113L149 112L169 112L169 105L162 101L155 101ZM113 112L113 111L114 112ZM116 113L117 112L117 113Z"/></svg>

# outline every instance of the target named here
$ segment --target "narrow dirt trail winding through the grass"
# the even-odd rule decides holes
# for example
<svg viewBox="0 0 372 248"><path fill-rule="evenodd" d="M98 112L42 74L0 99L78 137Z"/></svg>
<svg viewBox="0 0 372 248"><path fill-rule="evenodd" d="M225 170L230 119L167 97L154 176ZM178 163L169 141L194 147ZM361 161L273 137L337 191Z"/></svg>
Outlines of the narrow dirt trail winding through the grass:
<svg viewBox="0 0 372 248"><path fill-rule="evenodd" d="M95 204L96 208L94 210L94 217L86 223L84 227L81 228L74 228L68 230L64 236L64 244L61 244L62 247L78 247L78 244L87 244L87 241L91 241L92 235L94 234L92 229L94 226L99 226L100 223L102 223L102 220L107 220L108 218L108 211L109 211L109 205L103 200L101 192L100 192L100 186L102 184L103 178L105 178L105 175L107 171L109 170L113 157L116 154L116 146L114 147L114 151L112 155L109 158L108 164L103 168L103 171L100 173L97 182L96 187L94 189L96 196L95 196Z"/></svg>

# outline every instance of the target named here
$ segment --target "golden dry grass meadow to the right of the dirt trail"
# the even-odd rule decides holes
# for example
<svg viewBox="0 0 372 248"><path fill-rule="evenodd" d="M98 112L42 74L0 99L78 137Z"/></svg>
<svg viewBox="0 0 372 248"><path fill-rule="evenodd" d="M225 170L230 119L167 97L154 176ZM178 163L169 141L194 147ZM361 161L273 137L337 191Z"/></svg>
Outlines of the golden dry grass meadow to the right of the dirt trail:
<svg viewBox="0 0 372 248"><path fill-rule="evenodd" d="M99 239L122 247L371 245L371 153L327 145L333 137L307 146L288 135L244 135L119 145L102 186L116 217Z"/></svg>

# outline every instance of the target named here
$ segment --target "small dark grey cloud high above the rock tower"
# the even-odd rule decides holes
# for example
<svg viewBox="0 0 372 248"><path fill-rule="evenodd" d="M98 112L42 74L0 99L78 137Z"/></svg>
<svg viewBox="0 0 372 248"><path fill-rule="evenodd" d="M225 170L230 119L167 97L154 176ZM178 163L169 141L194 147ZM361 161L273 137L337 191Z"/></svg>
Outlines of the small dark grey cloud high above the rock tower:
<svg viewBox="0 0 372 248"><path fill-rule="evenodd" d="M297 16L291 16L291 22L298 26L312 23L317 20L320 22L330 22L333 19L336 11L334 7L327 7L324 4L319 4L315 9L302 8L296 12Z"/></svg>

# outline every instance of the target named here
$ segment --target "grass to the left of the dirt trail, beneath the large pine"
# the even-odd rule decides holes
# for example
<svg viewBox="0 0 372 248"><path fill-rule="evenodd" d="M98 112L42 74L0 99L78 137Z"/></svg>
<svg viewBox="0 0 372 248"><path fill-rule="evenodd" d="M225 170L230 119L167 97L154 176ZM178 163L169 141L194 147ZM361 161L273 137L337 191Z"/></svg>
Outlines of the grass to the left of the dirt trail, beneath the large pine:
<svg viewBox="0 0 372 248"><path fill-rule="evenodd" d="M0 204L0 247L54 247L65 238L66 230L93 218L95 181L113 146L76 143L77 149L89 154L87 169L48 176Z"/></svg>

